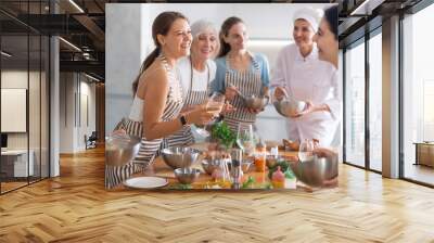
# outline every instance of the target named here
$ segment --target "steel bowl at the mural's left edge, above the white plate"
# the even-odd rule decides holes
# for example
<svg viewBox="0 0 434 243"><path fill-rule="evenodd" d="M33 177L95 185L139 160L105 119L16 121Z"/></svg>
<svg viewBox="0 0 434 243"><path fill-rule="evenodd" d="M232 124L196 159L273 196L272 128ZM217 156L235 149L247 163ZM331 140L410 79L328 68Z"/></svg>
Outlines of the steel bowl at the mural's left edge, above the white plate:
<svg viewBox="0 0 434 243"><path fill-rule="evenodd" d="M105 138L105 164L124 166L130 163L140 149L139 137L122 135Z"/></svg>

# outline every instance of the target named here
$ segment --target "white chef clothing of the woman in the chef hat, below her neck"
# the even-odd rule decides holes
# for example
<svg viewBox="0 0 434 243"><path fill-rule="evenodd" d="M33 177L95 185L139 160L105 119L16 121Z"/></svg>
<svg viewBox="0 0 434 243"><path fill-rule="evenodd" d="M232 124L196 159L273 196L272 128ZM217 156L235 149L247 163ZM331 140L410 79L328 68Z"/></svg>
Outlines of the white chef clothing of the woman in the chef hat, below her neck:
<svg viewBox="0 0 434 243"><path fill-rule="evenodd" d="M327 104L331 111L288 118L289 139L318 139L321 146L336 145L331 143L342 110L337 69L318 59L316 46L306 57L303 57L295 43L284 47L278 55L270 82L271 87L285 87L288 94L296 100Z"/></svg>

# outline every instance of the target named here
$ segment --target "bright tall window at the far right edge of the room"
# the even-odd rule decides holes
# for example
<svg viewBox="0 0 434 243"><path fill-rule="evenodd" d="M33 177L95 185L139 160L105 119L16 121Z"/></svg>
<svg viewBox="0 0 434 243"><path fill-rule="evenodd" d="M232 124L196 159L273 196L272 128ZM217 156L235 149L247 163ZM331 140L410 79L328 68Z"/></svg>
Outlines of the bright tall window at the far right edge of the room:
<svg viewBox="0 0 434 243"><path fill-rule="evenodd" d="M434 4L403 21L404 177L434 184Z"/></svg>

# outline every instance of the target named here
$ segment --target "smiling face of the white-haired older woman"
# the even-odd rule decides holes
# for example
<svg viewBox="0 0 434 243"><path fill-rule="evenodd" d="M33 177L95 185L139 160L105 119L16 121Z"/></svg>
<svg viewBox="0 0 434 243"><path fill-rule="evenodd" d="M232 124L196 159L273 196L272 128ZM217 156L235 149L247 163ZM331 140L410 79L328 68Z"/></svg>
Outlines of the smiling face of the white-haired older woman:
<svg viewBox="0 0 434 243"><path fill-rule="evenodd" d="M206 29L193 38L191 55L205 61L216 54L217 48L217 35L213 30Z"/></svg>

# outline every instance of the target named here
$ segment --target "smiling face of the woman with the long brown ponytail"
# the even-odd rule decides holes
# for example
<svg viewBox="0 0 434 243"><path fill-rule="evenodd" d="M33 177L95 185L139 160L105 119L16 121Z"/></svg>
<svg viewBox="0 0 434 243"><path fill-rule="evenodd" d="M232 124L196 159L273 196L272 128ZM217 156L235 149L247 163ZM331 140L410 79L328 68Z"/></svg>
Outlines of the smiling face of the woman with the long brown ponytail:
<svg viewBox="0 0 434 243"><path fill-rule="evenodd" d="M167 55L179 59L190 54L191 29L189 23L183 18L176 20L167 35L158 35L157 39Z"/></svg>

